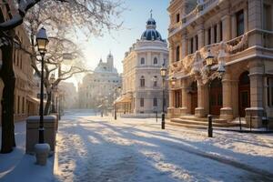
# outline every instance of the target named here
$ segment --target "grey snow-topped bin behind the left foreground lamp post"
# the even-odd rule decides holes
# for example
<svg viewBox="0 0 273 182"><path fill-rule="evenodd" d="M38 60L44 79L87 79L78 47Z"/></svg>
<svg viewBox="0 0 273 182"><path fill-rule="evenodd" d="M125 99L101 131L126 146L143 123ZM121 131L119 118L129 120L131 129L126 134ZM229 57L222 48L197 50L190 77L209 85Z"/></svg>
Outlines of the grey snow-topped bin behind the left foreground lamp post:
<svg viewBox="0 0 273 182"><path fill-rule="evenodd" d="M39 122L40 116L29 116L26 119L26 154L35 154L35 144L39 142ZM44 128L45 143L49 144L51 151L55 151L56 116L44 116Z"/></svg>

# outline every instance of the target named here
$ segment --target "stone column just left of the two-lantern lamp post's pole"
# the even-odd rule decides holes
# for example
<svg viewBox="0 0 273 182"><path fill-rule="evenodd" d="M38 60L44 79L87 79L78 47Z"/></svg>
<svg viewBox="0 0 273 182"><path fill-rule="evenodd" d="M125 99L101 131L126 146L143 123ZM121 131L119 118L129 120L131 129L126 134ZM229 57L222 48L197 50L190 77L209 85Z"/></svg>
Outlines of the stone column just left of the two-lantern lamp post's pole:
<svg viewBox="0 0 273 182"><path fill-rule="evenodd" d="M197 80L197 95L198 95L198 107L195 111L195 116L204 117L206 116L205 111L205 85L202 83L201 79Z"/></svg>

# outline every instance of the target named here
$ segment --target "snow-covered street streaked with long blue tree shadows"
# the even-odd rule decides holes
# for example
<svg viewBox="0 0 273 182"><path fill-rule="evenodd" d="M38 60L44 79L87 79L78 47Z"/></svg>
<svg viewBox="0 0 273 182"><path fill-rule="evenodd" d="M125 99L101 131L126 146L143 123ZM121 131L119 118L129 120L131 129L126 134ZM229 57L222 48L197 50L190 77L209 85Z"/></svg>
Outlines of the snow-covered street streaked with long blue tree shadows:
<svg viewBox="0 0 273 182"><path fill-rule="evenodd" d="M272 181L273 136L167 126L155 119L66 113L57 135L59 181Z"/></svg>

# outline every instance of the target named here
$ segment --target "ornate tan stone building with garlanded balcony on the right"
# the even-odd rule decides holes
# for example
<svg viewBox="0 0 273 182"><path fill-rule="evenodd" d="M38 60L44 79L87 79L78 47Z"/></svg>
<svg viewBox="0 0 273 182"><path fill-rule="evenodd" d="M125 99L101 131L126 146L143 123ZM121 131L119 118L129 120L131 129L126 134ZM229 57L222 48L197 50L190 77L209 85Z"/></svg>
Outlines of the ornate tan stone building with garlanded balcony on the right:
<svg viewBox="0 0 273 182"><path fill-rule="evenodd" d="M273 1L172 0L168 12L168 115L241 116L248 125L251 116L255 127L273 117Z"/></svg>

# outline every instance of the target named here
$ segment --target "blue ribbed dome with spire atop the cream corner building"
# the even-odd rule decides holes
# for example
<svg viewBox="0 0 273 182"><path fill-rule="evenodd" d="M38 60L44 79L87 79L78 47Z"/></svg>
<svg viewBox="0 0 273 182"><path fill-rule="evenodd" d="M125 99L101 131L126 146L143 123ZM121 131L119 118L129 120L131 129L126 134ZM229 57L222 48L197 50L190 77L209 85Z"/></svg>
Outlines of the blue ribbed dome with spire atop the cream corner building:
<svg viewBox="0 0 273 182"><path fill-rule="evenodd" d="M149 41L164 41L157 31L157 22L151 14L150 18L147 20L146 31L141 35L141 40Z"/></svg>

